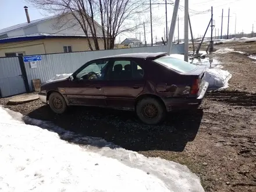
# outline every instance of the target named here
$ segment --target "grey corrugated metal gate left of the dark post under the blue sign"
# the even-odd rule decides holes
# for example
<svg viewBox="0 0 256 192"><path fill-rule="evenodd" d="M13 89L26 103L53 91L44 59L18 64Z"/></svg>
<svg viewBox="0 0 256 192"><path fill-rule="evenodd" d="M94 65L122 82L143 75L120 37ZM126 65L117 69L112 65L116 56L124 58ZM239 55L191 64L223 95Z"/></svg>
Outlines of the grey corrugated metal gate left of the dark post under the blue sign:
<svg viewBox="0 0 256 192"><path fill-rule="evenodd" d="M26 93L19 57L0 58L0 98Z"/></svg>

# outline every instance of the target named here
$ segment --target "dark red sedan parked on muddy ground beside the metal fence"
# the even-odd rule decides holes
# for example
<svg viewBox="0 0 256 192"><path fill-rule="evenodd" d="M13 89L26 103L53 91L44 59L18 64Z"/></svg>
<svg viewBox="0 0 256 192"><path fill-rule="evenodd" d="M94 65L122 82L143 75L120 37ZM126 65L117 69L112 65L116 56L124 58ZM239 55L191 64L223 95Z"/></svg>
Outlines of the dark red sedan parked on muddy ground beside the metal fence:
<svg viewBox="0 0 256 192"><path fill-rule="evenodd" d="M166 112L197 108L207 88L205 67L166 53L140 53L87 62L66 79L43 84L39 96L55 113L70 105L101 106L135 111L155 125Z"/></svg>

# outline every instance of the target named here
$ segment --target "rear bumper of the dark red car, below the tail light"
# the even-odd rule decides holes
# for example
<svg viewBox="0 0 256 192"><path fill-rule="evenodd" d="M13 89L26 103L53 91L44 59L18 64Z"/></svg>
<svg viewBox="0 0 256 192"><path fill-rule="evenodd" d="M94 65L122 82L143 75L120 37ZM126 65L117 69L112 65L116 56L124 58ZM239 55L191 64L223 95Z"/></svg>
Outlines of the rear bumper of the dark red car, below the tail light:
<svg viewBox="0 0 256 192"><path fill-rule="evenodd" d="M167 111L173 111L176 109L195 109L201 105L202 99L209 86L208 82L205 82L204 87L201 90L200 95L197 98L186 97L186 98L164 98Z"/></svg>

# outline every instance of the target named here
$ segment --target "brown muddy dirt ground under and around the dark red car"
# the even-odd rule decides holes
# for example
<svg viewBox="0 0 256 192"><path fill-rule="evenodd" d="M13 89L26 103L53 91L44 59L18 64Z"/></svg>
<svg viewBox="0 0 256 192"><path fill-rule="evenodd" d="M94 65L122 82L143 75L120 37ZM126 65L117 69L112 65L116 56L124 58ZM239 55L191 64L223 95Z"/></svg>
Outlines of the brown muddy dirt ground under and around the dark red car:
<svg viewBox="0 0 256 192"><path fill-rule="evenodd" d="M256 43L215 46L255 54ZM248 47L248 48L247 48ZM256 60L237 52L215 54L232 73L229 88L208 92L200 109L169 113L166 122L147 126L133 112L73 107L56 115L39 100L0 105L49 120L66 130L102 137L147 157L187 165L201 178L205 191L256 191Z"/></svg>

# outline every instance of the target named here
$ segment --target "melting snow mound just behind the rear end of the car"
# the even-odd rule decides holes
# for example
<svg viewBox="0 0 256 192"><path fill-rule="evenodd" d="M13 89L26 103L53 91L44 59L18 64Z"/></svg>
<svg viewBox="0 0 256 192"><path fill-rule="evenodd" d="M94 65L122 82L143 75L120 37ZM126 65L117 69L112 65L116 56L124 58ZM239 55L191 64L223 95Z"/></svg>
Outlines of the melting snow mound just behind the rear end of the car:
<svg viewBox="0 0 256 192"><path fill-rule="evenodd" d="M231 77L232 74L222 69L207 68L205 72L205 81L209 83L209 88L227 88Z"/></svg>

